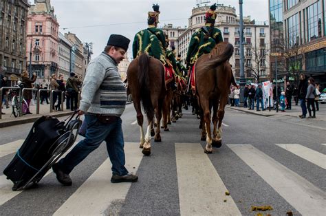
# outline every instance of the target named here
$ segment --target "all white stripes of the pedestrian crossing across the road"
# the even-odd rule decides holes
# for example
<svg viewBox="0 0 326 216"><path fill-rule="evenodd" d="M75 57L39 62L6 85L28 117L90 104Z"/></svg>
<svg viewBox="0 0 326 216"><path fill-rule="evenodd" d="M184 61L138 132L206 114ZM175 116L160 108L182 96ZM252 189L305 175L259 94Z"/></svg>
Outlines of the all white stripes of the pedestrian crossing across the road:
<svg viewBox="0 0 326 216"><path fill-rule="evenodd" d="M22 143L23 140L17 140L0 145L0 161L4 156L16 152ZM175 143L174 147L180 215L217 215L217 213L218 215L243 215L243 211L232 194L226 195L226 192L232 188L226 186L226 182L220 177L219 167L214 166L210 160L210 156L215 156L214 153L213 155L205 154L200 143ZM241 162L257 173L298 213L324 215L326 193L323 189L288 169L252 144L226 144L225 147L235 153ZM274 144L270 147L281 148L294 158L305 160L323 171L326 169L325 154L301 144ZM138 143L126 142L124 149L127 169L137 173L144 159ZM224 152L226 151L220 151L221 154ZM149 159L146 158L146 160ZM111 162L107 159L69 198L63 201L54 215L104 215L110 204L116 200L126 199L133 184L112 184L109 182L110 170ZM52 173L51 170L46 175L50 173ZM142 181L142 176L139 181ZM28 192L12 191L11 188L12 182L6 180L5 175L0 175L0 208L21 193L33 193L31 190Z"/></svg>

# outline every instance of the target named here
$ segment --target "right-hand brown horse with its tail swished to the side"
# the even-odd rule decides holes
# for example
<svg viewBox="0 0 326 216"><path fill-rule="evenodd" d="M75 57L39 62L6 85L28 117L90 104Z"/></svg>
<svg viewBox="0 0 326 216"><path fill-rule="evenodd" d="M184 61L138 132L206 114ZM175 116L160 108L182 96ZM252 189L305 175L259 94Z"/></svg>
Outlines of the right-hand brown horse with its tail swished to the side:
<svg viewBox="0 0 326 216"><path fill-rule="evenodd" d="M221 124L228 100L230 85L237 85L228 59L232 56L230 43L219 43L209 53L200 56L195 65L196 93L202 108L202 140L206 135L205 153L221 147ZM210 111L213 107L213 139L210 133ZM218 113L217 113L218 109ZM217 129L217 122L219 123Z"/></svg>

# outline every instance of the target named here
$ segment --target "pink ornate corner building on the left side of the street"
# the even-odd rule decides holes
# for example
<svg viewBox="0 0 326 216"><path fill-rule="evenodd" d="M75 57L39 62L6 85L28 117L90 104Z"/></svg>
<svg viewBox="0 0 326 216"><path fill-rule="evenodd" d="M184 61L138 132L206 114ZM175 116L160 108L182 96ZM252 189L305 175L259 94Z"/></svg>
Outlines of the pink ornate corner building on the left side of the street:
<svg viewBox="0 0 326 216"><path fill-rule="evenodd" d="M37 84L50 83L58 72L58 28L50 0L35 0L28 12L26 56Z"/></svg>

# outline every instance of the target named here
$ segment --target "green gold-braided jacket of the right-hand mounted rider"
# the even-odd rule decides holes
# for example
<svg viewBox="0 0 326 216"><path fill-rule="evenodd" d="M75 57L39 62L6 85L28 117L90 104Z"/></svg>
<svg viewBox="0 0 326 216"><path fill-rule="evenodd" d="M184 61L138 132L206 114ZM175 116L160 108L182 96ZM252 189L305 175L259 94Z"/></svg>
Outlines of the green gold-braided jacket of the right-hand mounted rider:
<svg viewBox="0 0 326 216"><path fill-rule="evenodd" d="M213 30L211 29L213 28ZM212 30L209 34L208 32ZM208 37L209 35L209 37ZM193 33L189 43L186 62L193 65L202 54L210 53L217 43L222 42L223 37L218 28L204 26Z"/></svg>

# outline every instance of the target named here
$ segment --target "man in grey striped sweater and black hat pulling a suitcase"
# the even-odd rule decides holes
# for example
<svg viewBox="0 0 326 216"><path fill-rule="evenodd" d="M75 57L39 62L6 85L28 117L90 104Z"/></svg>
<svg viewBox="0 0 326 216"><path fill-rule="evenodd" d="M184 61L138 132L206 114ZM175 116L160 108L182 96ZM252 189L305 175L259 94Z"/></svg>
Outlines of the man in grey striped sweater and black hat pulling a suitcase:
<svg viewBox="0 0 326 216"><path fill-rule="evenodd" d="M85 114L87 129L85 139L76 144L65 158L52 166L58 182L72 185L69 173L89 153L105 141L112 164L112 183L137 182L138 176L129 173L124 166L124 138L122 115L127 91L122 83L117 65L124 59L130 40L119 34L111 34L104 52L94 58L87 67L79 114Z"/></svg>

